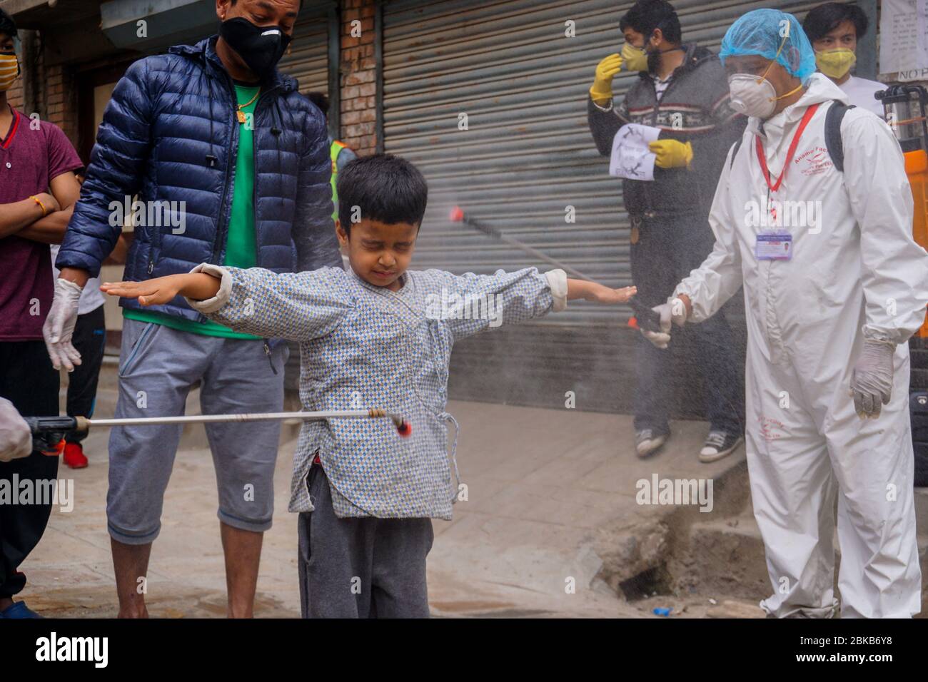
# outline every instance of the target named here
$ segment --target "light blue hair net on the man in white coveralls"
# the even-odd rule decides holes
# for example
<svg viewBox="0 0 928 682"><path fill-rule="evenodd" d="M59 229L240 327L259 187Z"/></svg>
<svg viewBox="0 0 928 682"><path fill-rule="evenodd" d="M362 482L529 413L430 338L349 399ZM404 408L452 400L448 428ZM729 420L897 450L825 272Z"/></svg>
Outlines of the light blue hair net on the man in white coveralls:
<svg viewBox="0 0 928 682"><path fill-rule="evenodd" d="M718 57L725 64L727 58L741 55L776 59L803 82L816 71L815 50L799 20L779 9L755 9L731 24Z"/></svg>

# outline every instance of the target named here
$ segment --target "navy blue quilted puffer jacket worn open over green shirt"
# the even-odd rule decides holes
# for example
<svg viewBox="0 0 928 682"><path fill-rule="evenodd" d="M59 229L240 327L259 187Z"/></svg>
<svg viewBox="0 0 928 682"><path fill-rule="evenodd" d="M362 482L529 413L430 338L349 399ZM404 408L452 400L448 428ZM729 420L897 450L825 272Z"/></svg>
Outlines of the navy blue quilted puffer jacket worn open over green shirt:
<svg viewBox="0 0 928 682"><path fill-rule="evenodd" d="M140 281L222 264L238 153L232 80L216 36L136 61L103 113L81 200L56 264L96 276L122 231L115 204L185 201L186 225L135 228L124 278ZM275 272L341 267L332 223L329 137L319 109L297 82L275 72L254 111L254 207L258 266ZM110 206L111 202L113 207ZM174 232L181 232L174 234ZM122 299L138 308L135 299ZM151 306L203 319L181 297Z"/></svg>

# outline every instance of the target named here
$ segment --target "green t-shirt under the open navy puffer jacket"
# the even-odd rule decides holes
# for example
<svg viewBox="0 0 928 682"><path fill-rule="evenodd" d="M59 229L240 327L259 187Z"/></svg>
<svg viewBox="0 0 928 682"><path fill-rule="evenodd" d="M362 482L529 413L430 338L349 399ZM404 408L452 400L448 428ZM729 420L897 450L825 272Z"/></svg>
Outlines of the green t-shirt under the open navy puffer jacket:
<svg viewBox="0 0 928 682"><path fill-rule="evenodd" d="M242 107L245 114L253 114L257 106L260 88L248 85L235 86L238 104L251 101ZM229 216L229 229L226 235L226 258L223 264L233 267L254 267L258 264L258 238L254 232L254 125L249 117L245 123L238 123L238 157L235 164L235 184L232 187L232 214ZM239 334L237 331L223 327L213 320L197 322L174 315L165 315L154 310L122 309L122 316L142 322L154 322L172 329L189 331L205 336L221 336L227 339L259 339L251 334Z"/></svg>

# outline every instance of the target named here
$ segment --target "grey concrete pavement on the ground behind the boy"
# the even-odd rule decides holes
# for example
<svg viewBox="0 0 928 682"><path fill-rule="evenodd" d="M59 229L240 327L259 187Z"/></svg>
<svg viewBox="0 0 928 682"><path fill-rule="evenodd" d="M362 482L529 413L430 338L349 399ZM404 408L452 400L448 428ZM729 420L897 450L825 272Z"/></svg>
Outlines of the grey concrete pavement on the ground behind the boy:
<svg viewBox="0 0 928 682"><path fill-rule="evenodd" d="M112 414L114 399L112 389L101 389L98 418ZM187 407L187 414L199 411L196 392ZM660 529L675 508L637 504L636 482L653 474L719 478L737 470L742 458L739 452L700 464L696 452L706 427L699 422L677 422L664 452L641 461L632 452L628 417L459 402L449 410L461 425L458 463L467 493L454 521L434 522L429 588L435 615L644 614L650 602L626 602L620 583L646 571L655 557L664 560ZM256 607L264 617L299 615L296 517L286 509L294 436L285 427L275 524L264 537ZM53 511L22 566L29 576L22 597L46 615L116 613L105 516L108 437L100 430L85 441L88 469L62 466L59 478L74 481L74 509ZM161 617L224 616L225 587L213 460L202 427L189 426L152 551L148 610Z"/></svg>

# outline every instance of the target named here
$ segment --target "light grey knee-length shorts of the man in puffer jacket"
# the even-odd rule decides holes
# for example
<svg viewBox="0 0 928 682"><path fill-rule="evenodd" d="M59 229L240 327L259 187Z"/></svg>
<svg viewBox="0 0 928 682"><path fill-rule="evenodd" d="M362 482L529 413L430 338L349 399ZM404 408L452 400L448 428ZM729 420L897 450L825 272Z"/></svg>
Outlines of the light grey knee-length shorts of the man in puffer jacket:
<svg viewBox="0 0 928 682"><path fill-rule="evenodd" d="M287 354L283 343L268 360L263 341L201 336L125 319L116 418L183 415L187 393L198 380L204 415L280 412ZM274 511L280 422L194 428L206 429L213 452L220 521L246 531L266 531ZM110 432L107 521L115 540L143 545L158 536L181 429L132 426ZM212 493L191 490L188 495Z"/></svg>

